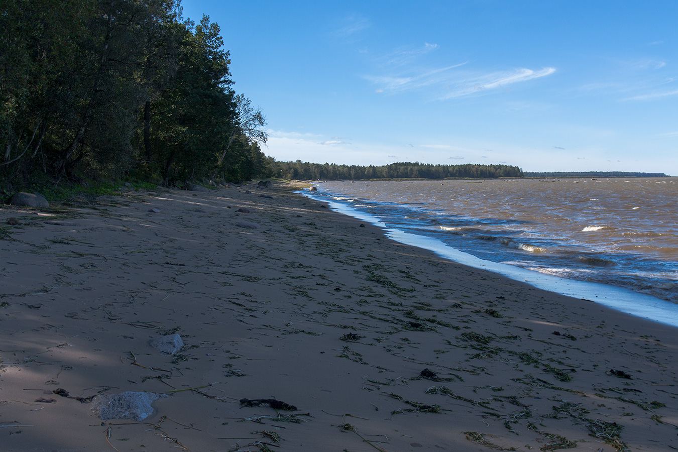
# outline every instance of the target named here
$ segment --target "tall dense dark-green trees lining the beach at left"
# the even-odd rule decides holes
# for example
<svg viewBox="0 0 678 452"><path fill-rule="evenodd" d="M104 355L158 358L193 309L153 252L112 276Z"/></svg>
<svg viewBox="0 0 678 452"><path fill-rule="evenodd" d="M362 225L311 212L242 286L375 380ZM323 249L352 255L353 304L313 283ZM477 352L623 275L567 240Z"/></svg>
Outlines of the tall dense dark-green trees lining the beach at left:
<svg viewBox="0 0 678 452"><path fill-rule="evenodd" d="M219 26L178 0L0 0L0 182L266 174ZM243 108L244 107L244 108Z"/></svg>

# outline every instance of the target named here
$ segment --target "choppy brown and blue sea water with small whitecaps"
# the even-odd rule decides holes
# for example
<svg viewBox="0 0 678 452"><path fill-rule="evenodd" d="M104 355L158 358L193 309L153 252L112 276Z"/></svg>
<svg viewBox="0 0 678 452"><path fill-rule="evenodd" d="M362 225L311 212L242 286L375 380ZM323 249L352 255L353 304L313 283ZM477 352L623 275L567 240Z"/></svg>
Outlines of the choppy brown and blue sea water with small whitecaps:
<svg viewBox="0 0 678 452"><path fill-rule="evenodd" d="M678 326L677 182L321 182L310 194L462 264Z"/></svg>

